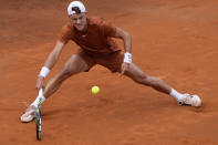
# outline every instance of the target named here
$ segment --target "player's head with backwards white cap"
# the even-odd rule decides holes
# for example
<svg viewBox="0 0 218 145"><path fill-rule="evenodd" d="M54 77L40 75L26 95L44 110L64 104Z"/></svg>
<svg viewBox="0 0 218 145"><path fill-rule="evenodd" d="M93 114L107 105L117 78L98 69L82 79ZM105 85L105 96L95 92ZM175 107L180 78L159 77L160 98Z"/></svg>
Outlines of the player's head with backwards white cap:
<svg viewBox="0 0 218 145"><path fill-rule="evenodd" d="M68 14L71 22L79 31L84 31L86 29L86 10L82 2L72 1L68 7Z"/></svg>

